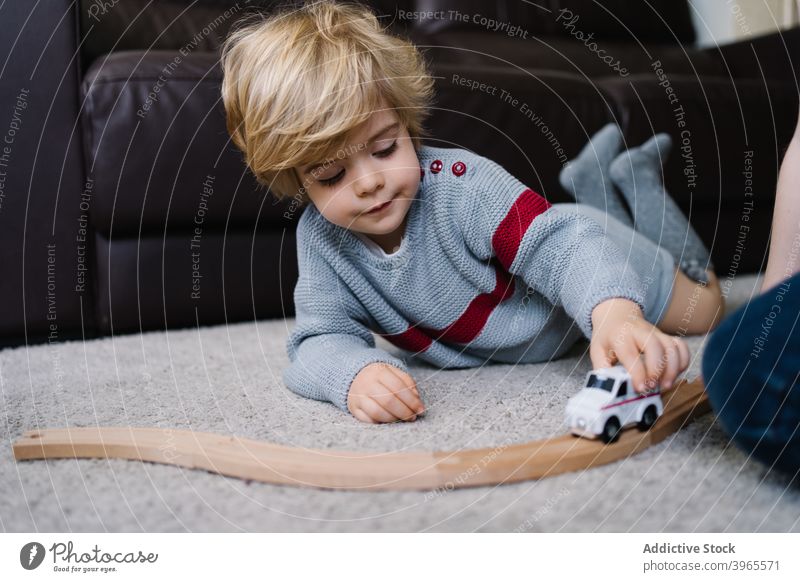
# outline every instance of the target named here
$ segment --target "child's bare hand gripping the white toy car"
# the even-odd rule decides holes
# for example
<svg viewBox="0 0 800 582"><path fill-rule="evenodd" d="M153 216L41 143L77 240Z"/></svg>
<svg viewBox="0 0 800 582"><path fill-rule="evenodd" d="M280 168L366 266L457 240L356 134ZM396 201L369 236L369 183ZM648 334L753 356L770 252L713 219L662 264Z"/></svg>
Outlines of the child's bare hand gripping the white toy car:
<svg viewBox="0 0 800 582"><path fill-rule="evenodd" d="M672 386L689 366L689 348L644 319L638 305L627 299L603 301L592 311L589 353L594 368L620 363L628 370L637 392L659 384Z"/></svg>

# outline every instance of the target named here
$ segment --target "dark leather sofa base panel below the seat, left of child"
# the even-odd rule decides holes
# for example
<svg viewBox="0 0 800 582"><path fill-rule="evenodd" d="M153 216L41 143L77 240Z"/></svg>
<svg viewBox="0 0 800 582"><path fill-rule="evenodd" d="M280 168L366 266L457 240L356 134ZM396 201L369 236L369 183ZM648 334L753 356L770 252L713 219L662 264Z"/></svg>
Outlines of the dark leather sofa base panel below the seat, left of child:
<svg viewBox="0 0 800 582"><path fill-rule="evenodd" d="M95 237L100 333L294 315L293 230Z"/></svg>

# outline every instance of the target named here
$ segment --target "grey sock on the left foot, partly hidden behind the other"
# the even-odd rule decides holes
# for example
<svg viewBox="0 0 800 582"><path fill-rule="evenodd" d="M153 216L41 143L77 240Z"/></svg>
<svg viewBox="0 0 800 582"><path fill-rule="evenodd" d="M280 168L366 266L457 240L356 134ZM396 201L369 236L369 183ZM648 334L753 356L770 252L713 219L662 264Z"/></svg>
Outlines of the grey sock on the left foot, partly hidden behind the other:
<svg viewBox="0 0 800 582"><path fill-rule="evenodd" d="M630 214L608 169L621 147L622 133L616 123L609 123L591 137L578 157L564 166L558 181L579 204L594 206L630 226Z"/></svg>

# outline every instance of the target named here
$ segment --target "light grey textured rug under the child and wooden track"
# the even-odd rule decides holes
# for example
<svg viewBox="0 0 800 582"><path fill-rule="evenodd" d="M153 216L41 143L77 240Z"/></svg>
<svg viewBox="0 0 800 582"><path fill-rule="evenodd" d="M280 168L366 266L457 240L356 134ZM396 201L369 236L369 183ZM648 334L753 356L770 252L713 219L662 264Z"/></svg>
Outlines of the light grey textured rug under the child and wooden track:
<svg viewBox="0 0 800 582"><path fill-rule="evenodd" d="M734 282L729 306L757 281ZM281 382L292 320L0 351L0 529L171 531L800 531L800 491L731 446L708 414L624 461L541 481L358 492L268 485L124 460L16 463L24 431L146 426L296 447L495 447L565 432L587 343L536 365L441 371L411 363L428 413L366 425ZM699 373L703 337L689 338ZM378 345L395 348L379 338Z"/></svg>

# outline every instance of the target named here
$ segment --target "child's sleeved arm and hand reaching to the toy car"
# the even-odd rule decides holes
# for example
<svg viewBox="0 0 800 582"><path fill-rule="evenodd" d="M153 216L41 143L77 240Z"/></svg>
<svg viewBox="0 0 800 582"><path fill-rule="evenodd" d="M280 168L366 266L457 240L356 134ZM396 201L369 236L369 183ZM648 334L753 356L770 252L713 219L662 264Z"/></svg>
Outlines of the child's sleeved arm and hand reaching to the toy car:
<svg viewBox="0 0 800 582"><path fill-rule="evenodd" d="M457 210L472 252L495 257L562 306L591 338L594 367L620 362L640 391L671 385L689 364L688 348L645 320L642 284L601 226L550 208L491 160L475 165Z"/></svg>

